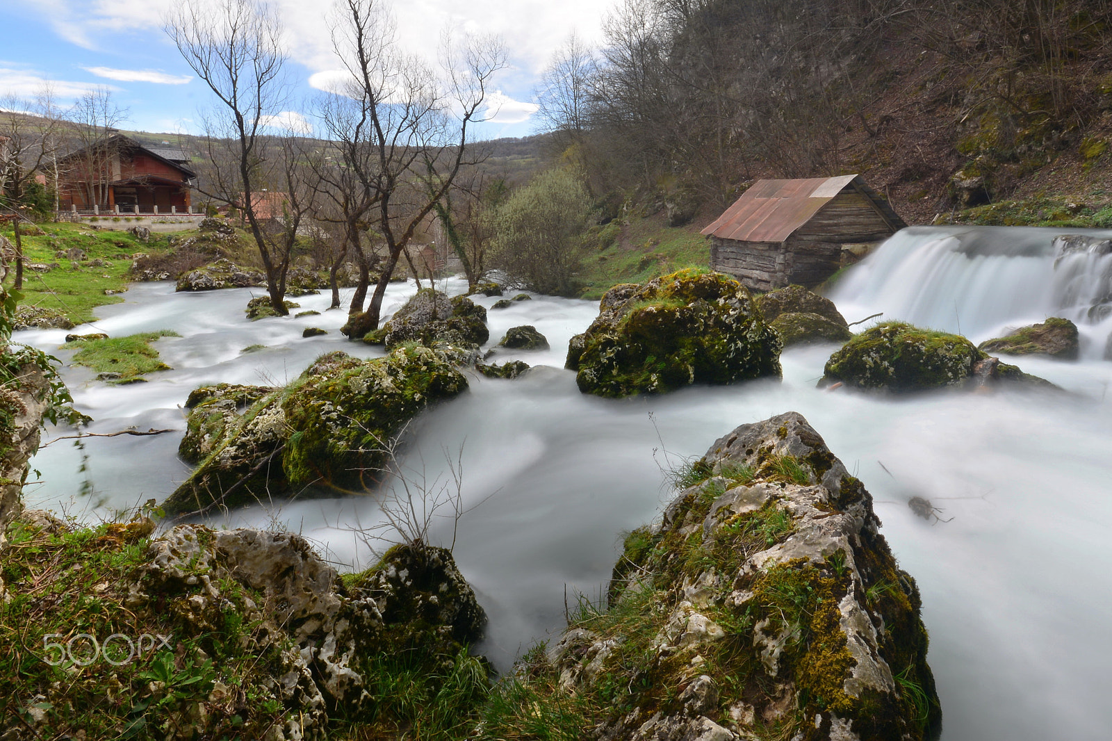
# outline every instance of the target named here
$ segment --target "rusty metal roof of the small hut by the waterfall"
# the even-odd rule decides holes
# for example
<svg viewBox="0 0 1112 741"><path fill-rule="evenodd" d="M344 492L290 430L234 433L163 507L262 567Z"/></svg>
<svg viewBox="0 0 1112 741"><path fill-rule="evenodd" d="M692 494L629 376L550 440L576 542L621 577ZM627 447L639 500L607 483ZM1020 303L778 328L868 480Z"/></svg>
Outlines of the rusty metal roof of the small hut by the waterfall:
<svg viewBox="0 0 1112 741"><path fill-rule="evenodd" d="M739 241L784 241L818 209L853 184L867 197L893 231L906 226L857 175L803 180L757 180L702 234Z"/></svg>

